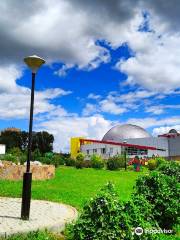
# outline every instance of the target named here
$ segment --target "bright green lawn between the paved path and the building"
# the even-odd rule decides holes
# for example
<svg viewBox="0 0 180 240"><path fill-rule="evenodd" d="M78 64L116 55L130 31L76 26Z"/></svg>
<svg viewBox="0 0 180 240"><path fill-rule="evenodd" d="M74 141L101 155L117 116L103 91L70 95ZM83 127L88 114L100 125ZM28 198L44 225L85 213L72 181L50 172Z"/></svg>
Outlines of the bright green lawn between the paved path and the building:
<svg viewBox="0 0 180 240"><path fill-rule="evenodd" d="M120 199L128 200L138 176L145 172L108 171L60 167L54 179L33 181L32 198L70 204L81 209L98 190L112 181ZM0 180L0 196L21 197L22 181Z"/></svg>

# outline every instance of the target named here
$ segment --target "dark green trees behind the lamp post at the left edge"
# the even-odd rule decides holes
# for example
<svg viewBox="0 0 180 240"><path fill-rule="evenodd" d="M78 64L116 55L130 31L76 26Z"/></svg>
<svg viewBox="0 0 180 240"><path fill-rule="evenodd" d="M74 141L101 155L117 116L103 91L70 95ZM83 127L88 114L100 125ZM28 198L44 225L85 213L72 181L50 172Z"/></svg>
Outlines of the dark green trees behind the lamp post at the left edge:
<svg viewBox="0 0 180 240"><path fill-rule="evenodd" d="M33 132L32 136L32 152L36 149L44 155L53 151L54 136L46 131ZM28 132L4 130L0 135L0 144L6 145L6 151L9 152L13 148L19 148L25 152L28 148Z"/></svg>

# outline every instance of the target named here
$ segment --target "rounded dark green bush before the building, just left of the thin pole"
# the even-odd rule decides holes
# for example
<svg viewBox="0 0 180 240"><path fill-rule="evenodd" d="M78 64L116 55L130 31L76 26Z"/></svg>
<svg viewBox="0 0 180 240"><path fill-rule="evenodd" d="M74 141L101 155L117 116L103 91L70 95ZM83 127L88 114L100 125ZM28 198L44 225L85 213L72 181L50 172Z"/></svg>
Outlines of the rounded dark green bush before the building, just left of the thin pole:
<svg viewBox="0 0 180 240"><path fill-rule="evenodd" d="M107 160L108 170L117 170L119 168L124 168L124 166L125 166L124 157L121 155L110 157Z"/></svg>

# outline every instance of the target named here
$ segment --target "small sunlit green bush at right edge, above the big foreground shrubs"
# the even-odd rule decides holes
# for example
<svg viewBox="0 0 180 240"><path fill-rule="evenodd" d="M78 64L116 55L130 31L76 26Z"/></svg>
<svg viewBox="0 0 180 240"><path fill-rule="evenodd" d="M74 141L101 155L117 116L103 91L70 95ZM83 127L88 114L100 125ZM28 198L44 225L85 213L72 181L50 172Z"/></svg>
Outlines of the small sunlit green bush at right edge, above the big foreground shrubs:
<svg viewBox="0 0 180 240"><path fill-rule="evenodd" d="M177 181L180 182L180 165L178 163L166 161L164 164L161 164L157 170L168 176L176 177Z"/></svg>

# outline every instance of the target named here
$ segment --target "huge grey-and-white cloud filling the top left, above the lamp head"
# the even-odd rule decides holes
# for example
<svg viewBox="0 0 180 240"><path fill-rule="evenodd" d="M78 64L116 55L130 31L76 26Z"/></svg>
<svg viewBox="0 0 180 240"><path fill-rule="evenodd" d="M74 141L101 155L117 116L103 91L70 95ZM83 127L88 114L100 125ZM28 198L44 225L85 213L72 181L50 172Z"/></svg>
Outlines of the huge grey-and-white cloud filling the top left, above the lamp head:
<svg viewBox="0 0 180 240"><path fill-rule="evenodd" d="M98 1L0 2L0 62L20 62L24 56L37 53L48 62L94 69L110 60L109 51L96 41L105 39L113 46L120 45L139 21L137 15L137 7L127 0L106 1L103 7Z"/></svg>

